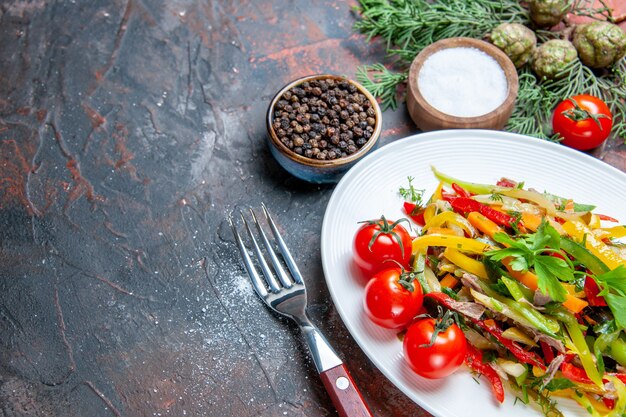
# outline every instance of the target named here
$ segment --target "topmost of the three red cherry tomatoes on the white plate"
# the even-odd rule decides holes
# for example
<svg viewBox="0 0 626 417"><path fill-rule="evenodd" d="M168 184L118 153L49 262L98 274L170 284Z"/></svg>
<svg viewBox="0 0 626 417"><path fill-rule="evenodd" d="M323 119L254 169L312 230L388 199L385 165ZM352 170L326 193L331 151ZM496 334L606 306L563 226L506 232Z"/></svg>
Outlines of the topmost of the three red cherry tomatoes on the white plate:
<svg viewBox="0 0 626 417"><path fill-rule="evenodd" d="M402 220L391 222L384 217L370 220L356 232L353 260L366 280L376 272L394 266L389 261L396 261L404 269L409 269L412 239L399 224Z"/></svg>

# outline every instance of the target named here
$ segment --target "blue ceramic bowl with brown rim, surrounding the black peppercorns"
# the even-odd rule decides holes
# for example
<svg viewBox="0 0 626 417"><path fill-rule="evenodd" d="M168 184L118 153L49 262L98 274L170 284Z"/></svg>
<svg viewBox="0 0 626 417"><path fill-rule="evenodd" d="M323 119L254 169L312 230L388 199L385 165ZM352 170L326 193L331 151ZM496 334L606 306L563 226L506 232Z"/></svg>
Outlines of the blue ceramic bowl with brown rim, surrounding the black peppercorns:
<svg viewBox="0 0 626 417"><path fill-rule="evenodd" d="M374 131L368 141L355 153L343 158L337 158L332 160L318 160L308 158L303 155L299 155L296 152L289 149L284 143L278 139L278 135L273 128L273 115L274 108L278 100L282 95L293 87L302 84L305 81L313 81L320 79L334 79L335 81L347 81L353 84L359 92L361 92L370 101L372 107L376 111L376 124L374 125ZM361 84L356 81L330 74L310 75L307 77L298 78L284 86L272 99L268 111L267 111L267 138L270 151L276 161L290 174L304 181L325 184L338 182L343 174L350 169L358 160L363 156L371 152L378 145L378 138L380 136L382 125L382 113L380 107L376 102L374 96L367 91Z"/></svg>

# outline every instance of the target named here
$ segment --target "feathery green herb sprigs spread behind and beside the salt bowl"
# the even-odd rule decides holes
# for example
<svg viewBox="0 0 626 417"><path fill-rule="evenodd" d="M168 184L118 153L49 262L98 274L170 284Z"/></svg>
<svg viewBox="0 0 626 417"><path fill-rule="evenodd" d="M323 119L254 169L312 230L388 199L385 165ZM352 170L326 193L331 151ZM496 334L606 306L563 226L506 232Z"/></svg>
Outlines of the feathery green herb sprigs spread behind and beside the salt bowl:
<svg viewBox="0 0 626 417"><path fill-rule="evenodd" d="M401 89L408 78L408 66L425 47L440 39L466 36L482 39L504 22L530 25L528 10L518 0L359 0L361 19L355 30L368 40L380 37L392 62L365 65L357 80L381 99L383 109L396 109ZM612 21L611 10L601 0L594 8L589 0L574 0L573 13ZM539 30L540 42L560 36ZM558 141L552 134L552 111L563 99L592 94L604 100L613 113L613 132L626 140L626 58L610 70L592 70L579 60L568 65L561 77L539 80L528 68L519 70L515 108L505 130Z"/></svg>

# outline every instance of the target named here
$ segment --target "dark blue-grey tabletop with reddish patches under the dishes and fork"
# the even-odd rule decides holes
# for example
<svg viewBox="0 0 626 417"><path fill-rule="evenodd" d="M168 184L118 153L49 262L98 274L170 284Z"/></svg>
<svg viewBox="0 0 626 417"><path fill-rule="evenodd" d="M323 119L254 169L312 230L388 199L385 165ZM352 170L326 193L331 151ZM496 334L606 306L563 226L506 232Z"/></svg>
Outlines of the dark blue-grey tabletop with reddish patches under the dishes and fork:
<svg viewBox="0 0 626 417"><path fill-rule="evenodd" d="M265 143L282 85L384 59L353 5L0 4L0 416L336 415L241 268L225 216L261 201L374 414L427 415L330 299L333 187L290 177ZM413 133L404 106L384 113L382 145ZM626 171L622 142L593 155Z"/></svg>

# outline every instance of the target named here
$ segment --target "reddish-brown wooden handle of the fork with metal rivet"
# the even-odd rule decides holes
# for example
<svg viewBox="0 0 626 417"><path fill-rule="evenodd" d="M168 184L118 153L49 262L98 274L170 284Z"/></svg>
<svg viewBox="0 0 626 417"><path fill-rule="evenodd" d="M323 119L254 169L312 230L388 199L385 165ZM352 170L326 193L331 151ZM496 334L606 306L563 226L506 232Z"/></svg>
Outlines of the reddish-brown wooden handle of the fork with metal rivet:
<svg viewBox="0 0 626 417"><path fill-rule="evenodd" d="M320 377L341 417L372 417L344 364L321 372Z"/></svg>

